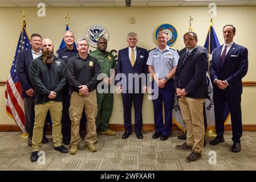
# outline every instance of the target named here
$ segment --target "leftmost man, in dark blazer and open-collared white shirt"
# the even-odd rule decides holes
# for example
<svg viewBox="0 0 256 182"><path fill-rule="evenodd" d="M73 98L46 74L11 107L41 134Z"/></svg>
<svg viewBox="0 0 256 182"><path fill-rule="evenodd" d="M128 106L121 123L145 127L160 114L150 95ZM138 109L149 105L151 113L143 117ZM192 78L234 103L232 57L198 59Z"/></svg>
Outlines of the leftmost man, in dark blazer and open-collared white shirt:
<svg viewBox="0 0 256 182"><path fill-rule="evenodd" d="M33 127L35 123L35 98L34 88L32 88L29 77L29 65L33 59L36 59L42 55L42 51L40 49L42 44L42 37L39 34L32 34L30 39L32 48L19 52L17 56L16 75L22 86L22 95L25 109L25 128L27 134L29 134L27 145L31 147ZM44 123L43 127L42 143L48 143L48 139L46 138L46 131L47 122Z"/></svg>

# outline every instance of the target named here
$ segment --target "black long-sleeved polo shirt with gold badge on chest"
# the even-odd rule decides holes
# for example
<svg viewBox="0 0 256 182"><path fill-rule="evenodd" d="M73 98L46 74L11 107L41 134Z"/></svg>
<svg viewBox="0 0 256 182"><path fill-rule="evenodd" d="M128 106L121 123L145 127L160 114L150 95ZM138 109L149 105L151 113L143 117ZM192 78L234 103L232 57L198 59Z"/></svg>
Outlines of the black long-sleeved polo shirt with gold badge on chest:
<svg viewBox="0 0 256 182"><path fill-rule="evenodd" d="M101 80L97 80L100 74L100 64L95 57L89 54L83 59L76 54L71 57L67 64L67 80L71 85L71 90L79 92L79 86L86 85L89 92L96 89L97 84Z"/></svg>

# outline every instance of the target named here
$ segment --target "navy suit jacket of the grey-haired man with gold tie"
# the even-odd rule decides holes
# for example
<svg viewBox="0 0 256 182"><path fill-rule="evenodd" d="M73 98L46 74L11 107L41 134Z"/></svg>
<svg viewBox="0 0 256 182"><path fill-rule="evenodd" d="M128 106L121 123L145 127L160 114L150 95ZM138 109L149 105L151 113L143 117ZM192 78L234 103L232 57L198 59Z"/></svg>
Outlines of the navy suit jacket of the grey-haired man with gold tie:
<svg viewBox="0 0 256 182"><path fill-rule="evenodd" d="M137 50L137 55L136 55L136 60L135 60L135 64L133 65L133 67L132 67L131 61L129 60L128 47L121 49L118 52L116 73L117 74L123 73L127 78L127 84L122 85L123 90L131 90L129 88L132 88L133 90L135 89L134 79L133 79L133 84L131 82L129 82L129 80L128 80L129 73L132 73L132 75L134 75L135 73L138 73L139 75L141 73L145 73L145 76L146 76L145 83L146 84L141 85L141 80L140 80L139 90L141 91L142 86L147 85L148 65L146 63L148 60L148 51L147 51L147 49L140 48L140 47L136 47L136 50ZM121 78L119 78L119 76L117 75L116 80L120 81Z"/></svg>

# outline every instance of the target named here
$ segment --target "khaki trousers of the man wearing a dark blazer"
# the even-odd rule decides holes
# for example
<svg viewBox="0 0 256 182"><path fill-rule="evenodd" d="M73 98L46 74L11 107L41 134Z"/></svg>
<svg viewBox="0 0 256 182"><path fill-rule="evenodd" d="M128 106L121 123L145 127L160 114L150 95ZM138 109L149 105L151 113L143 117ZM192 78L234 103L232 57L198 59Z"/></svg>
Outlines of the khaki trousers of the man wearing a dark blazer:
<svg viewBox="0 0 256 182"><path fill-rule="evenodd" d="M205 125L203 106L204 98L179 98L181 115L186 125L186 143L193 147L193 150L202 154L204 149Z"/></svg>

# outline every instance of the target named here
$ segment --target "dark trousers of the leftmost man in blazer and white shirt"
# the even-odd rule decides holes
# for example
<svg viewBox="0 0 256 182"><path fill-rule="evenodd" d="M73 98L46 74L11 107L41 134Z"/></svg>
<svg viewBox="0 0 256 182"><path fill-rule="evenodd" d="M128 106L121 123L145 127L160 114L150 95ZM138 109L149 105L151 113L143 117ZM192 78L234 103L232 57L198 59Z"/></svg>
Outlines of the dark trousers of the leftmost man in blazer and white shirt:
<svg viewBox="0 0 256 182"><path fill-rule="evenodd" d="M34 97L24 97L24 109L25 109L25 129L29 138L32 138L34 123L35 123L35 99ZM47 121L44 122L43 136L46 135Z"/></svg>

